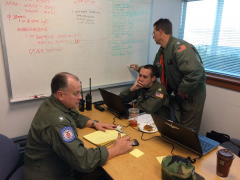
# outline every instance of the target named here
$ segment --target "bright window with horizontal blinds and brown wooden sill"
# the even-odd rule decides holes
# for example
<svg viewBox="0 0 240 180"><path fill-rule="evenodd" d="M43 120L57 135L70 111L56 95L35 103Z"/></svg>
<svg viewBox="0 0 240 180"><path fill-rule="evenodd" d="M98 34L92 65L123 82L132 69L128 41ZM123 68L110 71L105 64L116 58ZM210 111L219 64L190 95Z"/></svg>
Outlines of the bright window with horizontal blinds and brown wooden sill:
<svg viewBox="0 0 240 180"><path fill-rule="evenodd" d="M199 51L207 83L240 91L239 0L183 0L179 38Z"/></svg>

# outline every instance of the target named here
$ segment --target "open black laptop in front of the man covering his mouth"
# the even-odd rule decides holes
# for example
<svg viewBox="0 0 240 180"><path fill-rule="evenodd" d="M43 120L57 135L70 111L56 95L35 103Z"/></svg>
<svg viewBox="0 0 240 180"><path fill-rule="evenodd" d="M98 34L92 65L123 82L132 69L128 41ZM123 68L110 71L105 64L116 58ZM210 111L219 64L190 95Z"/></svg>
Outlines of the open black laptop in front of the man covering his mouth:
<svg viewBox="0 0 240 180"><path fill-rule="evenodd" d="M99 88L104 104L108 110L120 118L128 118L128 109L122 102L119 95L113 94L105 89Z"/></svg>

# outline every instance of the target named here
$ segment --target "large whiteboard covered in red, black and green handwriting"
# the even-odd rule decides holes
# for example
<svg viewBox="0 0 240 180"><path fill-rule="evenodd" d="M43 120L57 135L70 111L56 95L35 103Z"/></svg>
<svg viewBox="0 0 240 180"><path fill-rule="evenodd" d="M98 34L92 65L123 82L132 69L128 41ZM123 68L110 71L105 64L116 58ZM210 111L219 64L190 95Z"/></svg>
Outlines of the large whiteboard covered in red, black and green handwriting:
<svg viewBox="0 0 240 180"><path fill-rule="evenodd" d="M70 72L83 89L132 82L148 62L151 0L1 0L10 102L50 95Z"/></svg>

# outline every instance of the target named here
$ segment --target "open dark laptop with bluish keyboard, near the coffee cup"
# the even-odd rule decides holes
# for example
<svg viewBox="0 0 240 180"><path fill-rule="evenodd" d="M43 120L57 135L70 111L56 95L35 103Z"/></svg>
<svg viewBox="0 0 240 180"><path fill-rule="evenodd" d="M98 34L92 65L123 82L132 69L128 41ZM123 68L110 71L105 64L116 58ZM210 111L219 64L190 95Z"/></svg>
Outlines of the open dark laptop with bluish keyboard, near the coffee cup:
<svg viewBox="0 0 240 180"><path fill-rule="evenodd" d="M158 115L151 114L161 136L173 141L198 155L205 155L220 143L195 133L193 130Z"/></svg>

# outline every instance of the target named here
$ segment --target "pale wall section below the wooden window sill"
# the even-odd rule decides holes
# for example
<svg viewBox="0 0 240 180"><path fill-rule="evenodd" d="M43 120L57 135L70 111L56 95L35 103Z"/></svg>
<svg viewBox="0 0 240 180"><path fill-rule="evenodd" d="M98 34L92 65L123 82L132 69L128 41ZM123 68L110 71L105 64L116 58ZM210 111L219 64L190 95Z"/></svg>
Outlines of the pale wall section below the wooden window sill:
<svg viewBox="0 0 240 180"><path fill-rule="evenodd" d="M207 85L200 133L216 130L240 139L240 93Z"/></svg>

